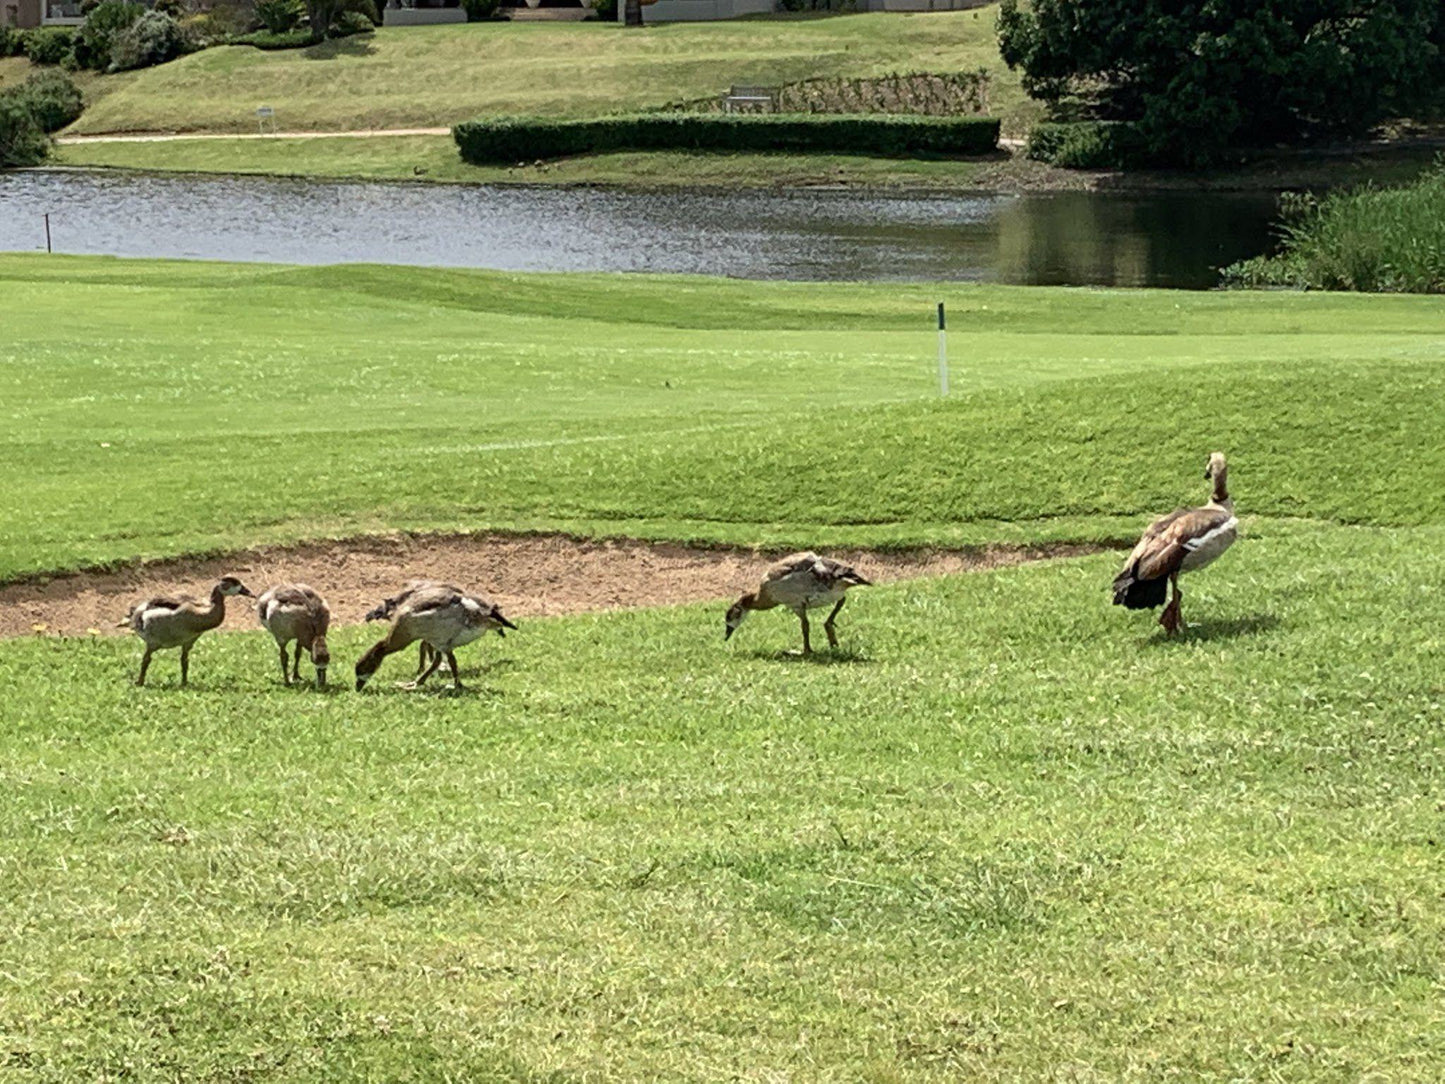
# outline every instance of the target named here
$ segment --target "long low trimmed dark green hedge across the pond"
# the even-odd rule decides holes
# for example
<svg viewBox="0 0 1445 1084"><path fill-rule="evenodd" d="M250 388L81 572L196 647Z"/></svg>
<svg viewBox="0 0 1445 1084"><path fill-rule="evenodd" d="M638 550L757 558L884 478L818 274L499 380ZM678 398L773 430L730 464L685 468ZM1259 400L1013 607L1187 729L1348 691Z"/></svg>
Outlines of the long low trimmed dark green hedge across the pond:
<svg viewBox="0 0 1445 1084"><path fill-rule="evenodd" d="M998 145L998 121L993 117L884 114L644 113L594 120L468 120L452 129L452 137L462 159L473 165L613 150L799 150L955 158L993 150Z"/></svg>

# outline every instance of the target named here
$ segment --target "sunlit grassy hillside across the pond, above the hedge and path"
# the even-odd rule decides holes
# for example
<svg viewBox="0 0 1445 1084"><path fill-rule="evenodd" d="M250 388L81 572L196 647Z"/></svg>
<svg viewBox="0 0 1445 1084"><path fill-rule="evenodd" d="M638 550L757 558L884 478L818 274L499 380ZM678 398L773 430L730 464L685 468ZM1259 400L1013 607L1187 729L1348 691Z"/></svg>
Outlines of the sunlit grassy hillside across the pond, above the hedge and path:
<svg viewBox="0 0 1445 1084"><path fill-rule="evenodd" d="M483 113L591 116L699 98L731 82L892 71L996 72L1023 107L991 10L656 26L477 23L381 29L312 49L207 49L116 77L74 132L249 132L260 104L290 130L445 126Z"/></svg>

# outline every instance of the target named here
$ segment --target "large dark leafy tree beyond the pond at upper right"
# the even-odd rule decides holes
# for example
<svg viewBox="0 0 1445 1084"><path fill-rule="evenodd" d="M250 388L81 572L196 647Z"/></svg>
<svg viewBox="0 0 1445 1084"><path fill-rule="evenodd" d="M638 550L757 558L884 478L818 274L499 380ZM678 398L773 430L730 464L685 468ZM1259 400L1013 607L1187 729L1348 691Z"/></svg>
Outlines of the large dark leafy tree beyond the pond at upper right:
<svg viewBox="0 0 1445 1084"><path fill-rule="evenodd" d="M1436 97L1441 0L1003 0L998 45L1059 114L1157 160L1358 134Z"/></svg>

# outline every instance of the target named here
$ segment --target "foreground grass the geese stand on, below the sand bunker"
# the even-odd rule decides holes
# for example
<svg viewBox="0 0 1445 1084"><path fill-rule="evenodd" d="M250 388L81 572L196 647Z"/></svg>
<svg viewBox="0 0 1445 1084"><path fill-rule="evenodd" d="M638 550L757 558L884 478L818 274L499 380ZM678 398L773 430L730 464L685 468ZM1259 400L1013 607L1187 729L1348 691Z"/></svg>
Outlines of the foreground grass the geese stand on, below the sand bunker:
<svg viewBox="0 0 1445 1084"><path fill-rule="evenodd" d="M1438 1080L1442 554L1247 538L1181 643L1113 556L860 593L831 666L776 614L533 621L464 698L7 643L6 1064Z"/></svg>

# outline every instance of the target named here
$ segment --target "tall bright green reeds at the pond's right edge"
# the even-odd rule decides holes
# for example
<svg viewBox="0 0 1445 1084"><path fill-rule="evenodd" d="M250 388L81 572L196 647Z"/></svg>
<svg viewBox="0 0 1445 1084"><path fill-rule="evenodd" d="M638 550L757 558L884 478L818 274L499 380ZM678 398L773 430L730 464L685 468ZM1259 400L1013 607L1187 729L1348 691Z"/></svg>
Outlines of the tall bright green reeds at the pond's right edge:
<svg viewBox="0 0 1445 1084"><path fill-rule="evenodd" d="M1280 202L1280 251L1224 269L1228 286L1445 293L1445 159L1403 188Z"/></svg>

